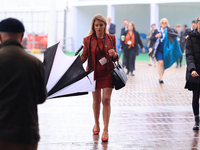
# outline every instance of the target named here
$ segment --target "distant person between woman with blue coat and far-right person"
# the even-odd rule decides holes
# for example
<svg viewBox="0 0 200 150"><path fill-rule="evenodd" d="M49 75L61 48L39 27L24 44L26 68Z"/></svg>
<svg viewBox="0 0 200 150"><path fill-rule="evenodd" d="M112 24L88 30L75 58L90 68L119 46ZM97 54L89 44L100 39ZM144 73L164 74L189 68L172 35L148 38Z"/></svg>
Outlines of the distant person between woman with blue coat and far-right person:
<svg viewBox="0 0 200 150"><path fill-rule="evenodd" d="M185 31L182 30L181 31L181 25L180 24L177 24L176 25L176 30L178 31L178 37L177 37L177 40L180 44L180 48L181 48L181 51L182 53L184 52L184 45L185 45ZM180 67L182 67L182 58L183 56L181 56L177 61L176 61L176 68L178 68L178 66L180 65Z"/></svg>

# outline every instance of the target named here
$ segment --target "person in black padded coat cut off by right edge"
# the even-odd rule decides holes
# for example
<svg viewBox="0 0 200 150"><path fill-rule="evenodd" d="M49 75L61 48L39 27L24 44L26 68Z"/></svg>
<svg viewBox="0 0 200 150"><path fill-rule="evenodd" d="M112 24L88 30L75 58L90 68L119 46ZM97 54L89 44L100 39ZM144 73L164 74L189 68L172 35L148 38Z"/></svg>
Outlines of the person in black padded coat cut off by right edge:
<svg viewBox="0 0 200 150"><path fill-rule="evenodd" d="M189 32L186 42L186 84L185 88L192 91L192 108L195 118L193 130L199 130L199 74L200 74L200 17L197 18L197 29Z"/></svg>

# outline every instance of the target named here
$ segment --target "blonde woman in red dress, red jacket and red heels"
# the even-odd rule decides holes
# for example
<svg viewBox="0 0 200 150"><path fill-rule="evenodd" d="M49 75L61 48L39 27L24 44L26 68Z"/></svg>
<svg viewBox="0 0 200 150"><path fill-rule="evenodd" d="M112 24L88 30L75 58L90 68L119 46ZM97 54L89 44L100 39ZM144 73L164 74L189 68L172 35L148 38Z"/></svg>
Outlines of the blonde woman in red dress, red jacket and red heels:
<svg viewBox="0 0 200 150"><path fill-rule="evenodd" d="M112 71L113 61L119 59L116 53L116 39L107 31L106 19L97 14L92 19L92 26L89 34L83 39L84 47L81 55L81 61L88 60L87 70L94 70L94 79L96 80L96 89L93 95L93 111L95 125L93 134L99 134L99 114L100 104L103 103L103 121L104 130L102 141L108 141L108 125L111 112L111 93L113 90ZM101 92L103 95L101 96Z"/></svg>

